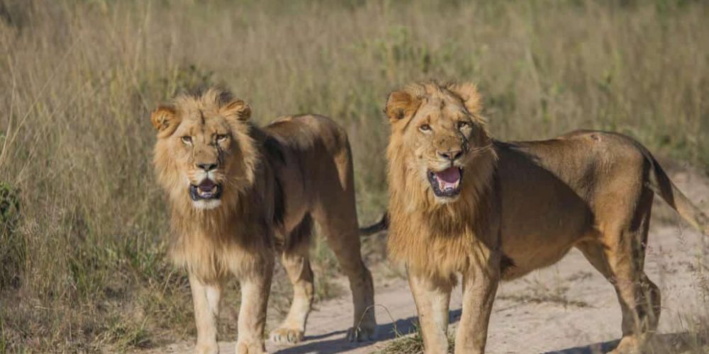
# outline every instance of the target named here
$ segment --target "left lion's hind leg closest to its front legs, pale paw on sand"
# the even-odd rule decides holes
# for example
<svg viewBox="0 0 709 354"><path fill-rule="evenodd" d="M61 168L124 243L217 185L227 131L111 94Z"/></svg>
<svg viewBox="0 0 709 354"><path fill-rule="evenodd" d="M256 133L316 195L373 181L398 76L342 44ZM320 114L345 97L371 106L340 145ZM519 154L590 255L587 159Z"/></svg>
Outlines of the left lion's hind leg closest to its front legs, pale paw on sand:
<svg viewBox="0 0 709 354"><path fill-rule="evenodd" d="M306 321L313 305L313 269L308 257L312 220L306 215L300 225L289 235L289 244L281 255L281 264L286 269L293 285L293 302L286 319L271 331L271 341L293 344L303 340Z"/></svg>

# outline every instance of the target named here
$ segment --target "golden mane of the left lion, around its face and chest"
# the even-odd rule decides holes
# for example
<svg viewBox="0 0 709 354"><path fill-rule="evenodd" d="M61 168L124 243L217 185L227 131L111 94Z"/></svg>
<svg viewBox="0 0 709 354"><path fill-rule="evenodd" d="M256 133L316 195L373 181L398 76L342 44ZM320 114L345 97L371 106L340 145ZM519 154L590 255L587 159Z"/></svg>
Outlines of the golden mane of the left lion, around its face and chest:
<svg viewBox="0 0 709 354"><path fill-rule="evenodd" d="M216 112L223 110L225 105L227 108L232 105L234 109L228 111L228 115L248 115L250 108L247 105L236 107L239 102L242 103L240 100L234 100L227 91L208 89L202 94L177 96L171 106L158 108L158 111L170 110L173 117L182 119L201 114L200 112ZM156 127L165 124L160 120L160 115L157 117L153 115L153 124ZM228 155L227 158L239 159L238 163L244 173L240 176L225 176L224 183L227 188L221 198L221 205L213 210L201 210L191 205L184 185L182 165L174 161L170 146L164 144L165 139L176 129L175 123L179 124L172 123L171 128L159 132L153 161L157 180L169 195L172 211L170 253L174 263L200 274L205 280L216 280L225 276L228 269L243 269L248 272L248 269L255 267L262 258L271 258L272 256L264 254L264 251L269 249L267 244L272 244L272 236L253 236L254 233L262 234L260 228L264 226L264 222L271 221L274 210L273 198L264 194L272 192L272 187L267 183L269 166L259 163L262 153L257 141L263 139L264 133L250 122L230 120L231 134L240 153ZM191 122L185 119L182 124ZM250 229L253 224L259 225L259 230ZM240 227L237 229L236 225ZM232 246L234 249L247 251L243 252L242 259L226 256L231 252L227 249ZM230 264L234 262L240 262L242 265Z"/></svg>

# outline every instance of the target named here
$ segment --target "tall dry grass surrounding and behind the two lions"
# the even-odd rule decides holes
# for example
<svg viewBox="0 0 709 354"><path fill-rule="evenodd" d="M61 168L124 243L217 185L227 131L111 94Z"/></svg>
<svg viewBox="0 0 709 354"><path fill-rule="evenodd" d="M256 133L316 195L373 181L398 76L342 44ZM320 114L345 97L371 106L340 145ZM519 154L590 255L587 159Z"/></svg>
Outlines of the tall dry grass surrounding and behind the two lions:
<svg viewBox="0 0 709 354"><path fill-rule="evenodd" d="M413 80L475 81L502 139L616 130L709 170L709 6L615 3L0 0L0 181L21 205L0 228L0 350L194 331L148 122L180 89L223 84L258 122L335 118L365 221L386 205L381 109Z"/></svg>

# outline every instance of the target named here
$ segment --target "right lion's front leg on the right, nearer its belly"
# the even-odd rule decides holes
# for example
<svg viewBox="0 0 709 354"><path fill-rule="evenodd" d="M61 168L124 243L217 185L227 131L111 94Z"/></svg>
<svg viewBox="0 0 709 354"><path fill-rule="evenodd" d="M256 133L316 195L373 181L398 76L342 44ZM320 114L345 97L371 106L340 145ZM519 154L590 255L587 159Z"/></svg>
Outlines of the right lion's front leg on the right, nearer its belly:
<svg viewBox="0 0 709 354"><path fill-rule="evenodd" d="M500 281L499 262L473 265L463 274L463 309L455 353L484 353L490 313Z"/></svg>

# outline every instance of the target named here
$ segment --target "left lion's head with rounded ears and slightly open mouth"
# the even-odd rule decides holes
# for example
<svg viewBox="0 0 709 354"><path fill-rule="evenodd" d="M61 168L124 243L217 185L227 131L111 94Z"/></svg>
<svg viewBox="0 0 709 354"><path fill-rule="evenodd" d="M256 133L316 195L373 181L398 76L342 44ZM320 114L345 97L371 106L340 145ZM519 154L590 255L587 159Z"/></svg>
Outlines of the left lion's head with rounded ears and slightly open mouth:
<svg viewBox="0 0 709 354"><path fill-rule="evenodd" d="M220 93L208 91L152 113L160 131L155 164L164 187L201 210L219 207L250 173L244 161L250 108L240 100L220 100Z"/></svg>

